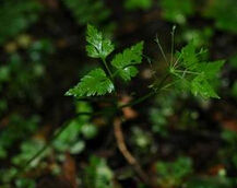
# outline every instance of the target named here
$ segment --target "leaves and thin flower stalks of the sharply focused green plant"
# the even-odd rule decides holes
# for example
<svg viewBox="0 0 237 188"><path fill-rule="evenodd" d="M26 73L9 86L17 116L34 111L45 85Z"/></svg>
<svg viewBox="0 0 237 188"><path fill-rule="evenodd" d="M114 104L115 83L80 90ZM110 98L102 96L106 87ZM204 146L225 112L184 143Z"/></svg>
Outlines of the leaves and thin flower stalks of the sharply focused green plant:
<svg viewBox="0 0 237 188"><path fill-rule="evenodd" d="M175 27L173 31L173 37ZM107 57L114 51L115 46L111 40L105 38L100 32L94 26L87 26L87 55L92 58L98 58L102 60L105 70L96 68L84 75L78 85L70 89L66 95L72 95L75 97L105 95L109 93L118 92L115 86L115 79L119 78L125 82L129 82L134 78L139 71L137 66L142 62L143 55L143 42L127 48L123 52L114 57L110 63L107 63ZM167 74L162 80L162 83L155 81L150 87L153 92L157 92L161 89L167 89L170 85L175 85L177 89L190 91L193 95L200 95L203 98L220 98L215 93L213 81L215 80L220 69L224 64L224 61L206 62L202 59L202 55L205 50L197 50L193 43L188 44L177 52L177 56L171 55L170 61L167 60L165 54L161 47L158 38L156 38L162 54L168 63ZM171 49L174 51L174 48ZM171 54L174 54L171 51ZM114 68L111 71L111 67ZM174 79L168 84L167 79Z"/></svg>

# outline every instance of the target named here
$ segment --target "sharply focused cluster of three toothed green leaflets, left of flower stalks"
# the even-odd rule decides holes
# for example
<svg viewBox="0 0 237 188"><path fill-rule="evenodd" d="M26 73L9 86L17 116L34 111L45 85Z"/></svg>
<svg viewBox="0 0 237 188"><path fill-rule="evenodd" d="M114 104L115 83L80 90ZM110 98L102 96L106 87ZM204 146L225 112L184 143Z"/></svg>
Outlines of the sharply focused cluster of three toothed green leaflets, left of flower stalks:
<svg viewBox="0 0 237 188"><path fill-rule="evenodd" d="M142 62L143 42L125 49L121 54L117 54L110 64L106 62L106 58L115 50L110 39L106 38L94 26L87 25L86 42L88 57L100 59L106 71L103 68L90 71L78 85L67 92L67 95L83 97L112 93L115 91L112 80L116 77L123 81L130 81L138 74L137 64ZM111 67L115 70L114 72Z"/></svg>

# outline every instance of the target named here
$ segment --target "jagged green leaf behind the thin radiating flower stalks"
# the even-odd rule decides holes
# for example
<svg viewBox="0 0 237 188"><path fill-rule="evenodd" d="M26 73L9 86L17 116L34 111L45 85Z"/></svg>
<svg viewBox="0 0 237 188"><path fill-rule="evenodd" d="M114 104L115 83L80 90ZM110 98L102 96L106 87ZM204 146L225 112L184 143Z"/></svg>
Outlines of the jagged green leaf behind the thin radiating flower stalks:
<svg viewBox="0 0 237 188"><path fill-rule="evenodd" d="M178 78L176 85L185 91L191 91L193 95L203 98L220 98L216 94L216 77L225 61L202 62L201 55L205 50L197 52L193 42L188 44L179 52L179 62L171 67L171 73Z"/></svg>

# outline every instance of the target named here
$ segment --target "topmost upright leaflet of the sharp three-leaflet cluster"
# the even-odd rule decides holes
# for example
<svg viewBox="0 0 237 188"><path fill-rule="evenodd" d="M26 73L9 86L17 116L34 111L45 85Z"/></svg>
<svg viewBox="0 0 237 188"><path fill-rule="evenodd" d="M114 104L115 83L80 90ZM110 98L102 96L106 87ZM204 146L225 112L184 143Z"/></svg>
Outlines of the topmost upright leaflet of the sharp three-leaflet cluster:
<svg viewBox="0 0 237 188"><path fill-rule="evenodd" d="M92 58L105 59L115 49L110 39L107 39L94 26L87 25L86 51Z"/></svg>

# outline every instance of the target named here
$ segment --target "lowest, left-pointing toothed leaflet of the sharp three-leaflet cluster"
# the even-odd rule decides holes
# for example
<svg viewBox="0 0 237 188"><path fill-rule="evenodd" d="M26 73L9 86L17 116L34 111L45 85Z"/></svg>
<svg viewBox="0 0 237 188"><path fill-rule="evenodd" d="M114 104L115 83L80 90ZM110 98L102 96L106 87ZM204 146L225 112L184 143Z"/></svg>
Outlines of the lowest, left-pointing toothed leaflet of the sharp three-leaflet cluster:
<svg viewBox="0 0 237 188"><path fill-rule="evenodd" d="M95 69L83 77L81 82L69 90L66 95L73 95L75 97L105 95L106 93L111 93L114 90L114 84L106 77L105 71L103 69Z"/></svg>

